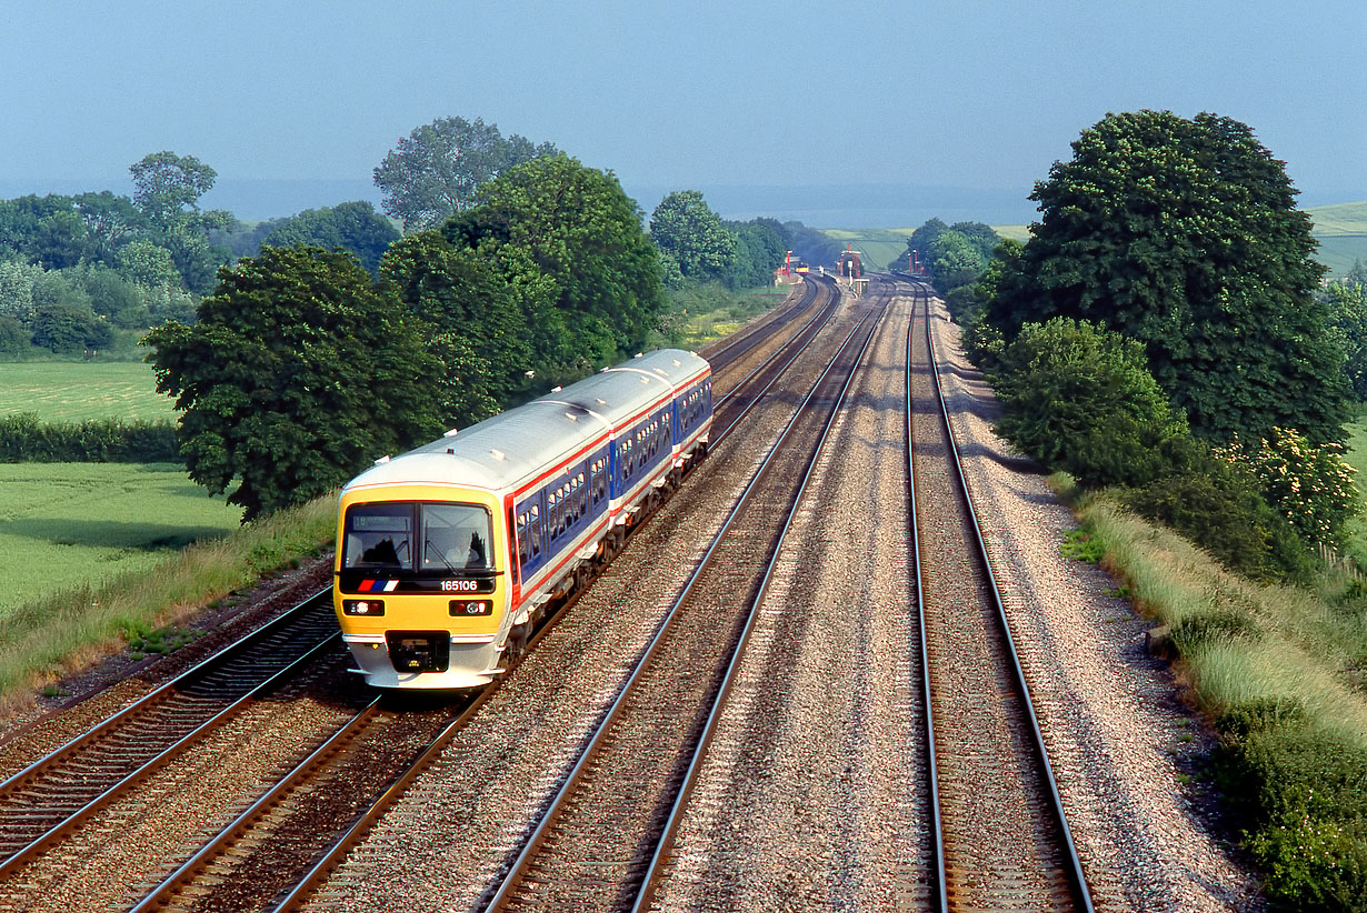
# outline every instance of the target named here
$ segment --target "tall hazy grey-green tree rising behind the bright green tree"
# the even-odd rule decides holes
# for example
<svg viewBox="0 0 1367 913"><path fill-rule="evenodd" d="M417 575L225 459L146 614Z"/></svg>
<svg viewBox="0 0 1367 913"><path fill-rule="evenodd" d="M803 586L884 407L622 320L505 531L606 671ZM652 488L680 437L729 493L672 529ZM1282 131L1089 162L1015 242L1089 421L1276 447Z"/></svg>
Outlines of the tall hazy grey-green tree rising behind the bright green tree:
<svg viewBox="0 0 1367 913"><path fill-rule="evenodd" d="M384 212L401 220L403 231L437 228L466 209L485 180L555 152L548 142L536 145L517 134L504 139L483 118L437 118L399 139L375 169L375 186L384 194Z"/></svg>

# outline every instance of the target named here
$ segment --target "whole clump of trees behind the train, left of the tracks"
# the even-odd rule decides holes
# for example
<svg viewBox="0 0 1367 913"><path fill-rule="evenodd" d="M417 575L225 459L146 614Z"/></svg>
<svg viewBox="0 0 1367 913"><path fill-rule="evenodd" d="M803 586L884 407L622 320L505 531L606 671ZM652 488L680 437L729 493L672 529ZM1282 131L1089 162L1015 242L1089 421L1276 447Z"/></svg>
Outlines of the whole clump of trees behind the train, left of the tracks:
<svg viewBox="0 0 1367 913"><path fill-rule="evenodd" d="M190 477L245 522L670 342L671 288L768 284L787 250L785 227L723 223L696 191L647 231L611 172L481 120L420 127L375 176L405 232L373 265L305 213L146 336Z"/></svg>

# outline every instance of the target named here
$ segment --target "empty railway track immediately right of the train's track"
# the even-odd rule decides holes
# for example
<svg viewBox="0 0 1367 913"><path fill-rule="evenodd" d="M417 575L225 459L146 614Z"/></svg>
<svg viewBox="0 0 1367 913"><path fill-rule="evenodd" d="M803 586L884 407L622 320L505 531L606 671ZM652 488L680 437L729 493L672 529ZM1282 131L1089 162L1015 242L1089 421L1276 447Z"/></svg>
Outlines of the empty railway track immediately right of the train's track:
<svg viewBox="0 0 1367 913"><path fill-rule="evenodd" d="M648 902L805 480L876 325L830 361L684 586L488 909Z"/></svg>

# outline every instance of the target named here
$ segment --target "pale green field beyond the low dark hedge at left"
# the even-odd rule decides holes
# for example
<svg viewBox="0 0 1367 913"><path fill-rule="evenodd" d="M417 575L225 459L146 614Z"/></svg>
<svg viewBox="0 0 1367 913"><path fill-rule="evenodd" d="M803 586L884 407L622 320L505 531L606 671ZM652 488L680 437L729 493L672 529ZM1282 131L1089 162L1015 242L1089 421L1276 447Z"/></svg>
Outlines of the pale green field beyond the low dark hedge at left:
<svg viewBox="0 0 1367 913"><path fill-rule="evenodd" d="M41 421L175 418L141 362L0 364L0 415L38 413Z"/></svg>

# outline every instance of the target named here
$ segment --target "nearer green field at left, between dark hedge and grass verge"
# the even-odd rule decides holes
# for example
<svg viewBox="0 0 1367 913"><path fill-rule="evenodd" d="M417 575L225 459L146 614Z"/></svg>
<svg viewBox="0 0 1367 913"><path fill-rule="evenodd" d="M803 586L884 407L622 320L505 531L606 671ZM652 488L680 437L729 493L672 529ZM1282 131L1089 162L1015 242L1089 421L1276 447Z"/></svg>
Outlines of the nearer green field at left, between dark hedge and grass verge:
<svg viewBox="0 0 1367 913"><path fill-rule="evenodd" d="M145 570L242 519L175 465L8 463L0 489L0 619L37 596Z"/></svg>

